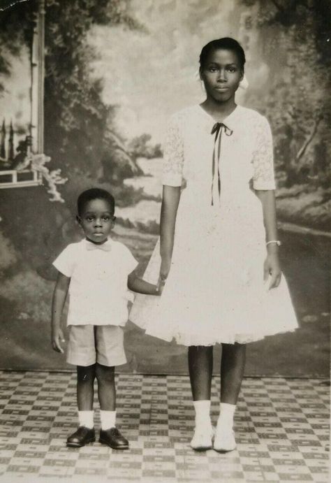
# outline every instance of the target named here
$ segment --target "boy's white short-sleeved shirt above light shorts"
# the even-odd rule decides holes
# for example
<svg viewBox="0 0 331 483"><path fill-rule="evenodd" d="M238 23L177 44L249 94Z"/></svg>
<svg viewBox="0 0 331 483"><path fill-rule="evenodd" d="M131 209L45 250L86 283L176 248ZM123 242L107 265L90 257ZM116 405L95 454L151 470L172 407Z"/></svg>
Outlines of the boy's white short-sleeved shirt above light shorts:
<svg viewBox="0 0 331 483"><path fill-rule="evenodd" d="M138 262L123 243L111 238L103 245L71 243L53 265L71 277L67 325L126 324L127 278Z"/></svg>

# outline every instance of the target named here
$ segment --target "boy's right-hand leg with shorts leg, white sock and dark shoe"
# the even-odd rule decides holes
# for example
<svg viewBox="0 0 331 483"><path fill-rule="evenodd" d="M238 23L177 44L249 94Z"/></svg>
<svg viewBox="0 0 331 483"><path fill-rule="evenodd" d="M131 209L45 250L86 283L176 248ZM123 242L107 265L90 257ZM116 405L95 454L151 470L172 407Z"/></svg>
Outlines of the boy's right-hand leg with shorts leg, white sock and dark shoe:
<svg viewBox="0 0 331 483"><path fill-rule="evenodd" d="M123 329L117 326L96 327L96 379L100 403L99 441L113 449L128 449L128 440L119 433L116 422L115 366L126 363Z"/></svg>

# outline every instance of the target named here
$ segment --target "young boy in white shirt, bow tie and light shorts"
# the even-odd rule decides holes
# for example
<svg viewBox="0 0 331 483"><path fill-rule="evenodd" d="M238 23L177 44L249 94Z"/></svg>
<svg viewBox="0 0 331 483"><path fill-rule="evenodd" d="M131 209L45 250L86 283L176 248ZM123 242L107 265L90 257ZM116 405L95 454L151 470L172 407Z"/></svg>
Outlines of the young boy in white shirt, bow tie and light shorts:
<svg viewBox="0 0 331 483"><path fill-rule="evenodd" d="M78 197L77 220L84 240L71 243L54 261L59 271L52 302L52 347L64 352L61 315L70 294L67 361L77 366L79 428L67 446L95 441L94 379L101 408L99 442L128 449L128 440L115 426L115 366L126 363L122 326L128 319L126 291L158 295L153 284L135 275L137 261L122 243L109 238L115 223L115 200L103 189L92 188Z"/></svg>

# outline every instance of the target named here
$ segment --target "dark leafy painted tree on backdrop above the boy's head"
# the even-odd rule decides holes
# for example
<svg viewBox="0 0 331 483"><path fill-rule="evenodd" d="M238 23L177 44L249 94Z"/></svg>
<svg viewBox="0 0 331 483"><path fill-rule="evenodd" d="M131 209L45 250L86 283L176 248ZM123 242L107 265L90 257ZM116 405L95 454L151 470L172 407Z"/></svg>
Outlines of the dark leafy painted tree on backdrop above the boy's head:
<svg viewBox="0 0 331 483"><path fill-rule="evenodd" d="M126 203L131 193L122 180L139 171L117 134L114 108L103 103L102 80L90 67L98 52L87 43L94 24L143 29L129 6L130 0L45 1L45 152L68 178L61 191L69 202L80 189L105 183ZM31 45L36 8L33 0L1 12L0 80L10 74L8 53Z"/></svg>

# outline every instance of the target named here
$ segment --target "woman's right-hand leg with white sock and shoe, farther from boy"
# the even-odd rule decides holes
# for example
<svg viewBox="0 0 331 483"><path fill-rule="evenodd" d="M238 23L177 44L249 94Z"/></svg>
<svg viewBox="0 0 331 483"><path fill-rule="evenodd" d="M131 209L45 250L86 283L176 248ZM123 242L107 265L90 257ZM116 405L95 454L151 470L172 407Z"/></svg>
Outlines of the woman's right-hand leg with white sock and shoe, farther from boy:
<svg viewBox="0 0 331 483"><path fill-rule="evenodd" d="M221 403L216 427L214 449L226 452L235 449L233 418L246 361L246 345L222 344Z"/></svg>

